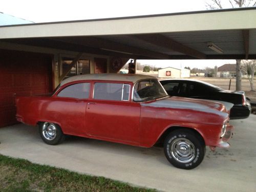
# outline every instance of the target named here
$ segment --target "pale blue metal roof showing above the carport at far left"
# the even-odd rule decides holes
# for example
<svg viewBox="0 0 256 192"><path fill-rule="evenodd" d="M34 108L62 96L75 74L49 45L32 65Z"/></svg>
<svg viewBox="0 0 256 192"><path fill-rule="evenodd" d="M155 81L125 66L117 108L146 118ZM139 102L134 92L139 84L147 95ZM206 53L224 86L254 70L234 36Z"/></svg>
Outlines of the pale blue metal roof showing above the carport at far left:
<svg viewBox="0 0 256 192"><path fill-rule="evenodd" d="M32 24L32 23L33 22L31 22L30 20L18 18L12 15L8 15L0 12L0 26Z"/></svg>

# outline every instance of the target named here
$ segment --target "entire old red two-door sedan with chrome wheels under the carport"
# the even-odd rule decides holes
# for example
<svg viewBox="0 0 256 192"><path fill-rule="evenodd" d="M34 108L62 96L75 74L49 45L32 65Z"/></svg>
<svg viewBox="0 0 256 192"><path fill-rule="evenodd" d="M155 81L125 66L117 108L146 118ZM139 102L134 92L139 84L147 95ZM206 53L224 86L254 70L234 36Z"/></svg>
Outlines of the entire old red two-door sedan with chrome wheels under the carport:
<svg viewBox="0 0 256 192"><path fill-rule="evenodd" d="M47 144L65 135L141 147L163 143L178 168L197 167L205 146L229 147L230 103L170 97L152 76L89 74L67 78L52 96L16 98L18 121L36 125Z"/></svg>

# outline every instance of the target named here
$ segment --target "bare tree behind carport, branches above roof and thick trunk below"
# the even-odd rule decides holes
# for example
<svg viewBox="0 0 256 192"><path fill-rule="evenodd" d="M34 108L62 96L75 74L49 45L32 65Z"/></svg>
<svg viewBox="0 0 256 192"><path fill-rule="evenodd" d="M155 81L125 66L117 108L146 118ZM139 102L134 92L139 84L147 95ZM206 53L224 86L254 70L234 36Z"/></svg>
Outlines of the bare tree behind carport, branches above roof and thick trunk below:
<svg viewBox="0 0 256 192"><path fill-rule="evenodd" d="M205 2L207 9L223 9L223 8L237 8L237 7L254 7L256 6L256 0L208 0ZM241 91L241 59L237 60L236 67L236 90Z"/></svg>

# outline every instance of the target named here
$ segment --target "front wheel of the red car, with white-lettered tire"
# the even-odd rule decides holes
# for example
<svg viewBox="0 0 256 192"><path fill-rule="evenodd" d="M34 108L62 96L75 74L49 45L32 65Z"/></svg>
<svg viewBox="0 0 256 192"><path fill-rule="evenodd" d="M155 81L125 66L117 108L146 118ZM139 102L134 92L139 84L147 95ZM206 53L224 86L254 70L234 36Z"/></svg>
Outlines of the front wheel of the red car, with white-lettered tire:
<svg viewBox="0 0 256 192"><path fill-rule="evenodd" d="M191 130L170 132L164 141L164 154L175 167L193 169L204 159L203 138Z"/></svg>

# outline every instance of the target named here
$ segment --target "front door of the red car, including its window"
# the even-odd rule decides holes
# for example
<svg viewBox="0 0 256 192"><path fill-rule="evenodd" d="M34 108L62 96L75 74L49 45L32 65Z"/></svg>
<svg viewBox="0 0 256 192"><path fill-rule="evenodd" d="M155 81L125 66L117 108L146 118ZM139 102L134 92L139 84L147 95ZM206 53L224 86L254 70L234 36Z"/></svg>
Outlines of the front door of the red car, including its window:
<svg viewBox="0 0 256 192"><path fill-rule="evenodd" d="M104 140L139 143L140 104L131 102L131 84L95 82L87 104L87 134Z"/></svg>

